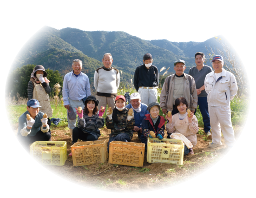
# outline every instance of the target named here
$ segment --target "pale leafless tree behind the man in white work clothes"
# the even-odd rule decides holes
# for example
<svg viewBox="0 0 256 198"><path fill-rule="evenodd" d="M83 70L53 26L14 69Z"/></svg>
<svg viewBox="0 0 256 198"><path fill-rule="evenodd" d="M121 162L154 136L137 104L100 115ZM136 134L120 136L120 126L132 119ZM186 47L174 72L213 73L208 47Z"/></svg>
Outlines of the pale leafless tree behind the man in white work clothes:
<svg viewBox="0 0 256 198"><path fill-rule="evenodd" d="M209 46L209 50L206 47L209 52L209 54L207 53L207 56L209 57L210 62L213 56L216 55L221 55L224 58L224 68L234 74L235 78L237 78L239 88L237 96L241 97L244 88L250 88L250 82L245 65L238 55L238 52L232 47L231 43L226 43L226 39L222 42L221 38L217 38L218 37L215 36L215 40L221 44L222 49L217 47L215 51L211 46Z"/></svg>

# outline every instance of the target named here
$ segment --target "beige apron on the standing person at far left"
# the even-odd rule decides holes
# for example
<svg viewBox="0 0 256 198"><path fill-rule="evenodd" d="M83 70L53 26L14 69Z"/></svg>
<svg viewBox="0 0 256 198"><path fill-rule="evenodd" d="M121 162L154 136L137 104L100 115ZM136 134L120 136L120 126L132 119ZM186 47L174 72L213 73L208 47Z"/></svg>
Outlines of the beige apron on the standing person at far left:
<svg viewBox="0 0 256 198"><path fill-rule="evenodd" d="M43 85L36 84L33 82L35 87L33 90L33 98L38 100L40 103L39 110L43 112L44 114L47 114L47 117L52 117L52 110L51 110L51 104L50 104L50 98L49 95L45 92Z"/></svg>

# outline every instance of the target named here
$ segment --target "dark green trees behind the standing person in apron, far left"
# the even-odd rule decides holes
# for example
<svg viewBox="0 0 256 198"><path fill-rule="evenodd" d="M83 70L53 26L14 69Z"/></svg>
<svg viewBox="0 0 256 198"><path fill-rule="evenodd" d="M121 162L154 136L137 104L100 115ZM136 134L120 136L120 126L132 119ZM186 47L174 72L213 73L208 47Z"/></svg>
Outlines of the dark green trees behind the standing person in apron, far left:
<svg viewBox="0 0 256 198"><path fill-rule="evenodd" d="M12 71L6 77L5 90L6 94L11 93L11 97L17 96L17 93L23 97L28 97L28 83L30 81L30 75L33 69L36 67L34 64L23 65L21 68L17 68ZM63 85L63 79L58 72L58 70L53 71L50 69L45 70L48 74L47 78L50 81L49 85L52 89L49 96L54 96L54 84L60 83L61 87Z"/></svg>

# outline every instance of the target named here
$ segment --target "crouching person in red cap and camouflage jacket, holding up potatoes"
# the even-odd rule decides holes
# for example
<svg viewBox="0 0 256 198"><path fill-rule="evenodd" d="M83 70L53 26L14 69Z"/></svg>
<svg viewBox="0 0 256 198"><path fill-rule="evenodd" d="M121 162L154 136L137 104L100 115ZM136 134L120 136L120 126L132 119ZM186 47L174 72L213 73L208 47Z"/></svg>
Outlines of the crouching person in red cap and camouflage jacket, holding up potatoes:
<svg viewBox="0 0 256 198"><path fill-rule="evenodd" d="M110 142L130 142L133 137L134 112L132 112L132 115L128 115L129 109L125 108L126 98L122 95L116 96L115 104L116 108L113 109L113 112L110 112L108 109L106 114L106 126L108 129L111 129L108 152Z"/></svg>

